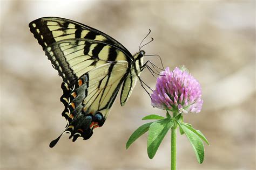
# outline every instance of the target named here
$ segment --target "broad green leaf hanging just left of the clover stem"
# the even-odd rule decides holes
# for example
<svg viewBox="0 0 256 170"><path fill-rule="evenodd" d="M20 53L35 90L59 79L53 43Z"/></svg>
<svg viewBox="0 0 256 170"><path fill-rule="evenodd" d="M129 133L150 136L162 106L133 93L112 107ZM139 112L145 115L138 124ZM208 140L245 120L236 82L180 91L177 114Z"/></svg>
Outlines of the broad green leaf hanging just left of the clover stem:
<svg viewBox="0 0 256 170"><path fill-rule="evenodd" d="M149 134L147 136L147 155L149 155L150 159L154 157L161 141L172 126L173 122L169 118L153 122L150 125Z"/></svg>

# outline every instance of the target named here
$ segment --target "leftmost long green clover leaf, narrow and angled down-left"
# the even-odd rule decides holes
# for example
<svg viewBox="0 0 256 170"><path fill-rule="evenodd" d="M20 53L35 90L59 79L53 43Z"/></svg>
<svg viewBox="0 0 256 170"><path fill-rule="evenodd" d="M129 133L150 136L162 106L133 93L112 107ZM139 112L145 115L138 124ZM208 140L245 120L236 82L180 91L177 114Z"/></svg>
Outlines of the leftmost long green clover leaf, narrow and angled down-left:
<svg viewBox="0 0 256 170"><path fill-rule="evenodd" d="M142 126L139 126L139 128L132 133L132 135L130 136L130 138L128 139L128 141L126 143L126 150L127 150L127 148L129 148L131 146L131 144L135 140L137 140L140 136L142 136L146 131L149 130L149 127L152 123L153 122L150 122L150 123L146 123Z"/></svg>

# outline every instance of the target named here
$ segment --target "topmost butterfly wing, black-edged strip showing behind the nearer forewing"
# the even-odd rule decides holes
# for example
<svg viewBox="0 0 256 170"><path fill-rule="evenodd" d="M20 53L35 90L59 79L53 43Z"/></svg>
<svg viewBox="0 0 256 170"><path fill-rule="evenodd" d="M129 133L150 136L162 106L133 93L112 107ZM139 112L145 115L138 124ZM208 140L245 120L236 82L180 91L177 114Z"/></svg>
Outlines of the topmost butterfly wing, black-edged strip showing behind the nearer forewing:
<svg viewBox="0 0 256 170"><path fill-rule="evenodd" d="M43 17L33 20L29 27L38 43L43 47L43 50L53 44L53 42L71 38L85 38L115 45L122 48L127 56L132 56L117 40L99 30L73 20L59 17Z"/></svg>

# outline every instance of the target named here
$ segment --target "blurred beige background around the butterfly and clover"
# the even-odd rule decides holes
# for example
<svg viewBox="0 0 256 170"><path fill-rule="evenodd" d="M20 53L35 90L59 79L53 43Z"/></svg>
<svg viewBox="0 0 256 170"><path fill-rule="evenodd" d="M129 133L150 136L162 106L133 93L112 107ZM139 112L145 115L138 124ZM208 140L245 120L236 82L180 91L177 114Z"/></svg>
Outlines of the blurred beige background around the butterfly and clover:
<svg viewBox="0 0 256 170"><path fill-rule="evenodd" d="M178 136L178 169L255 169L255 1L1 1L1 169L170 169L170 134L150 160L146 135L129 150L130 134L153 109L137 84L129 102L119 96L104 126L75 143L66 125L61 79L28 24L58 16L95 27L164 65L185 65L203 88L203 110L185 122L210 141L199 165L185 136ZM148 39L149 40L149 39ZM148 57L157 65L159 60ZM151 87L156 79L142 74Z"/></svg>

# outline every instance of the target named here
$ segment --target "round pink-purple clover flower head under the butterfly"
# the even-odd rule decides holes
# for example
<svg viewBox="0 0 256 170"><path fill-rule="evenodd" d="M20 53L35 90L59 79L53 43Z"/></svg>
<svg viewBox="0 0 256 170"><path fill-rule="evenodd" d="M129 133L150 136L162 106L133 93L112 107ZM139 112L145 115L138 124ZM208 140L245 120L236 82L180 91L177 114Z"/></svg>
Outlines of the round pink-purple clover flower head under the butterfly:
<svg viewBox="0 0 256 170"><path fill-rule="evenodd" d="M151 105L159 109L178 112L201 111L201 86L187 69L167 67L157 78L156 90L151 94Z"/></svg>

